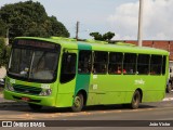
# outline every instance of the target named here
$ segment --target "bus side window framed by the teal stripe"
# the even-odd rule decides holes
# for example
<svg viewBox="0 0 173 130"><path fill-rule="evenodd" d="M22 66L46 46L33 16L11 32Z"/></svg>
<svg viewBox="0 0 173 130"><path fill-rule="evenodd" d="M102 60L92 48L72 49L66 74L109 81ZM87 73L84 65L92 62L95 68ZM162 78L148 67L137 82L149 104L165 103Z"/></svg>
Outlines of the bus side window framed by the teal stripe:
<svg viewBox="0 0 173 130"><path fill-rule="evenodd" d="M79 51L78 73L90 74L92 69L92 51Z"/></svg>

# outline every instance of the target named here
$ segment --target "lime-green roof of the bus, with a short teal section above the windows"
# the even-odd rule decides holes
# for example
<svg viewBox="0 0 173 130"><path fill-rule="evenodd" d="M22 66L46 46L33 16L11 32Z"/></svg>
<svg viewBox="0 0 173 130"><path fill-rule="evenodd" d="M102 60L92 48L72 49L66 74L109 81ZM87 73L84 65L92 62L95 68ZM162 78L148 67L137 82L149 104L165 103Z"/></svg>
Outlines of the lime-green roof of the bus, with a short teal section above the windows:
<svg viewBox="0 0 173 130"><path fill-rule="evenodd" d="M137 47L131 43L118 42L118 43L108 43L105 41L77 41L76 39L62 38L62 37L51 37L51 38L38 38L38 37L17 37L16 39L34 39L42 40L53 43L58 43L63 48L68 49L78 49L78 46L89 50L91 48L95 51L109 51L109 52L129 52L129 53L145 53L145 54L163 54L169 55L169 52L161 49L148 48L148 47Z"/></svg>

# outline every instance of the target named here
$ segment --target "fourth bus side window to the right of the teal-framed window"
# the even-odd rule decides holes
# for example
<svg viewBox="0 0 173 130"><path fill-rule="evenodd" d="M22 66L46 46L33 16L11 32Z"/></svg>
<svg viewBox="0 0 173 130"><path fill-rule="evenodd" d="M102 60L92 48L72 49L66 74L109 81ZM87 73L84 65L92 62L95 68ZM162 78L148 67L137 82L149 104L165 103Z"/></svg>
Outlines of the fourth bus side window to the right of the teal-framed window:
<svg viewBox="0 0 173 130"><path fill-rule="evenodd" d="M138 54L137 57L137 74L148 75L149 73L149 54Z"/></svg>

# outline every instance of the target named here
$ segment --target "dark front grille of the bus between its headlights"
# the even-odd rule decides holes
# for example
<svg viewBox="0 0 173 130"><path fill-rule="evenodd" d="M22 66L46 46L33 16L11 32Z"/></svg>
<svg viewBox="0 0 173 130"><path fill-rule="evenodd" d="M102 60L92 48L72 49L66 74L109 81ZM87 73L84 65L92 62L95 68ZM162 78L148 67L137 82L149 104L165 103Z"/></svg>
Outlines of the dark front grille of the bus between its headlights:
<svg viewBox="0 0 173 130"><path fill-rule="evenodd" d="M13 88L14 88L14 91L16 91L16 92L26 93L26 94L34 94L34 95L38 95L42 91L41 88L23 86L23 84L14 84Z"/></svg>

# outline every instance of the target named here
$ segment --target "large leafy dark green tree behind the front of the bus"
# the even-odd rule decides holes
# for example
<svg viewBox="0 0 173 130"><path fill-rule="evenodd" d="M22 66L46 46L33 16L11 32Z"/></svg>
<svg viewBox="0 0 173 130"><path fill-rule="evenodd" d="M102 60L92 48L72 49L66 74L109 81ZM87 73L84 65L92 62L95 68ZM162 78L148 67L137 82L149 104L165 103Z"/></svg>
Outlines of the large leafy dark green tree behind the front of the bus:
<svg viewBox="0 0 173 130"><path fill-rule="evenodd" d="M0 18L6 24L12 39L18 36L50 37L54 35L69 37L65 26L56 17L49 17L40 2L30 0L5 4L0 9Z"/></svg>

